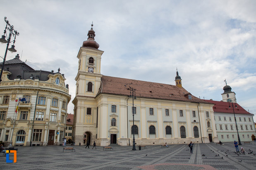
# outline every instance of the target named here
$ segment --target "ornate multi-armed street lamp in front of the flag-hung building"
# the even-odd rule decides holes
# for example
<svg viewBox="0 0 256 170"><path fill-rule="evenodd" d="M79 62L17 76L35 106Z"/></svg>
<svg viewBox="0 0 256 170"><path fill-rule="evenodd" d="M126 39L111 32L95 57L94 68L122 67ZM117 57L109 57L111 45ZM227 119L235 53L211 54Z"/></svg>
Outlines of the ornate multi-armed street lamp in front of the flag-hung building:
<svg viewBox="0 0 256 170"><path fill-rule="evenodd" d="M0 42L2 44L7 43L7 47L5 50L5 57L4 57L4 61L2 62L2 69L1 69L1 73L0 73L0 83L2 82L2 71L4 70L4 65L5 65L5 58L7 55L7 50L11 51L11 53L16 52L17 50L14 49L14 43L15 43L15 39L16 39L16 35L19 35L19 33L17 32L17 30L14 30L13 26L10 25L9 21L6 20L5 17L5 22L6 22L6 26L5 26L5 30L4 30L4 35L2 35L2 38L0 38ZM7 40L5 40L5 35L7 36L6 30L9 30L9 36L7 38ZM11 37L14 37L14 40L11 41ZM10 42L13 42L13 45L11 46L11 48L8 49Z"/></svg>

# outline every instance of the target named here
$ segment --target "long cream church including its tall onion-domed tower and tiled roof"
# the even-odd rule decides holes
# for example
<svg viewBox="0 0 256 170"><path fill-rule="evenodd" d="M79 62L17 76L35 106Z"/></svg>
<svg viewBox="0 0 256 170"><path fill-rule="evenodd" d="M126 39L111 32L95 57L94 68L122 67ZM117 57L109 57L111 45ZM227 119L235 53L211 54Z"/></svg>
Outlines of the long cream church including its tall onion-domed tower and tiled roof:
<svg viewBox="0 0 256 170"><path fill-rule="evenodd" d="M175 85L105 76L100 73L104 51L98 48L91 27L77 55L76 145L128 146L133 135L137 145L218 142L214 104L184 89L178 71Z"/></svg>

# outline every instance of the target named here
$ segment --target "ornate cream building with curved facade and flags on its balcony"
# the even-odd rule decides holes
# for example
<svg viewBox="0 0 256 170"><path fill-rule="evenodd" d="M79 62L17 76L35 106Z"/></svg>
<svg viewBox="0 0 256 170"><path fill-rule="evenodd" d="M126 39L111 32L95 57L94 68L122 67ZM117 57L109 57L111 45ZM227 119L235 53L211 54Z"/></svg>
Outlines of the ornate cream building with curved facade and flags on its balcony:
<svg viewBox="0 0 256 170"><path fill-rule="evenodd" d="M0 83L0 141L5 146L61 144L70 99L60 69L34 70L17 54L5 62Z"/></svg>

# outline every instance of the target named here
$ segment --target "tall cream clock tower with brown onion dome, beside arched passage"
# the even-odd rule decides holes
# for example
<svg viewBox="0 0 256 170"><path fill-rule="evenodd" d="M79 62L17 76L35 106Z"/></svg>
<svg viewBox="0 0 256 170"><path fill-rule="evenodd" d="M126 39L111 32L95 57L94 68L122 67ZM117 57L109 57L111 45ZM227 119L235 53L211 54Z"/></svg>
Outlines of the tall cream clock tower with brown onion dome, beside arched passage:
<svg viewBox="0 0 256 170"><path fill-rule="evenodd" d="M104 51L99 50L99 44L94 40L93 24L88 31L88 38L80 47L77 58L78 72L76 80L76 96L74 104L73 140L81 144L96 139L96 124L98 107L95 96L100 88L100 61Z"/></svg>

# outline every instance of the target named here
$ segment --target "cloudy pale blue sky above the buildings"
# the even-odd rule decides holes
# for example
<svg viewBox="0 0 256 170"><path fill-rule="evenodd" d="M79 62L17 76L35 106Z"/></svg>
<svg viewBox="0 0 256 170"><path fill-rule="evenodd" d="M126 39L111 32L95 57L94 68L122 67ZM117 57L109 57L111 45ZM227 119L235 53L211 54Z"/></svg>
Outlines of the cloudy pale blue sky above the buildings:
<svg viewBox="0 0 256 170"><path fill-rule="evenodd" d="M35 70L60 68L72 95L69 113L74 112L77 54L93 21L95 40L104 51L102 75L175 85L177 68L187 91L217 101L222 100L226 79L239 105L256 114L255 0L1 0L0 4L0 33L5 16L19 32L17 52L9 51L6 59L19 54ZM5 48L0 44L1 57Z"/></svg>

